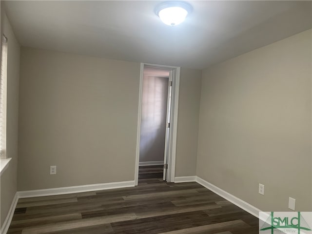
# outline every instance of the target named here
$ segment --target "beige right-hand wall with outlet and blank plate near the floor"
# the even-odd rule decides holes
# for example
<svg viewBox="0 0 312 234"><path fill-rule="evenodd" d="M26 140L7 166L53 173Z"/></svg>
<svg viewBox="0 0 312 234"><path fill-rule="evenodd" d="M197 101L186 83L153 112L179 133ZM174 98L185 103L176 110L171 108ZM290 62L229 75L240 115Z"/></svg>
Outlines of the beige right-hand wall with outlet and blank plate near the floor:
<svg viewBox="0 0 312 234"><path fill-rule="evenodd" d="M263 211L312 211L311 32L203 71L197 176Z"/></svg>

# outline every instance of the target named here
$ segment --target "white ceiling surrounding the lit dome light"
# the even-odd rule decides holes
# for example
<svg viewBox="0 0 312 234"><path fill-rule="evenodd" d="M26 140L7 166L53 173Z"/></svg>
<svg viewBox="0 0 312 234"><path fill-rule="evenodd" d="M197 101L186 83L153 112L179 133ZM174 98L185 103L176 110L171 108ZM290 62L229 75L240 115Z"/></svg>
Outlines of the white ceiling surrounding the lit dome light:
<svg viewBox="0 0 312 234"><path fill-rule="evenodd" d="M180 25L161 1L6 1L22 46L203 69L311 28L311 1L189 1Z"/></svg>

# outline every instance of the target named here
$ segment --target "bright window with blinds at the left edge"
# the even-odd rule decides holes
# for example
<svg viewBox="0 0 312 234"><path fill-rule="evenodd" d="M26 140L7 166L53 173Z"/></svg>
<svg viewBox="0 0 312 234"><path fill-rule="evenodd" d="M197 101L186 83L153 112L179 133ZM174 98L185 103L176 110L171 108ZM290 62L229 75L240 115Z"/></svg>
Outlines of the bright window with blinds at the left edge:
<svg viewBox="0 0 312 234"><path fill-rule="evenodd" d="M6 79L7 79L7 38L1 39L1 77L0 77L0 158L6 158Z"/></svg>

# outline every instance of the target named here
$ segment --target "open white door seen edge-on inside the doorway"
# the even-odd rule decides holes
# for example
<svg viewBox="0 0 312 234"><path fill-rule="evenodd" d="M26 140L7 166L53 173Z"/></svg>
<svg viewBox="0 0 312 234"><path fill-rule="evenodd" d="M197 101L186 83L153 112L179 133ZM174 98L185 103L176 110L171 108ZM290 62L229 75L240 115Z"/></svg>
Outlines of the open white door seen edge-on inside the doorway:
<svg viewBox="0 0 312 234"><path fill-rule="evenodd" d="M164 155L164 175L163 180L168 178L168 155L170 151L170 122L171 122L171 96L172 96L173 72L169 73L168 95L167 95L167 115L166 115L166 136L165 136L165 155Z"/></svg>

